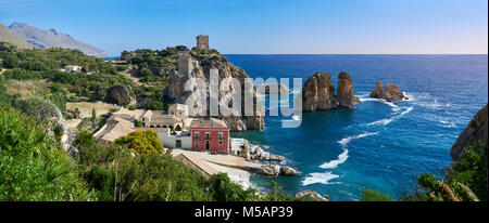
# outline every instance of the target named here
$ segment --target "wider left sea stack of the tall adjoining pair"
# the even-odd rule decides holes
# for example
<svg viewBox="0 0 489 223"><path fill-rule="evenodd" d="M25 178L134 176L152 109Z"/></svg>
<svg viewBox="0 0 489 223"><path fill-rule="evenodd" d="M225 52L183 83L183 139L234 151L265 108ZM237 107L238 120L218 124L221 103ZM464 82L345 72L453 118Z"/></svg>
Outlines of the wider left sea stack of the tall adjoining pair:
<svg viewBox="0 0 489 223"><path fill-rule="evenodd" d="M318 71L311 76L302 88L302 110L328 110L338 107L331 75Z"/></svg>

